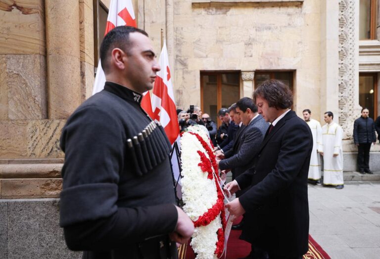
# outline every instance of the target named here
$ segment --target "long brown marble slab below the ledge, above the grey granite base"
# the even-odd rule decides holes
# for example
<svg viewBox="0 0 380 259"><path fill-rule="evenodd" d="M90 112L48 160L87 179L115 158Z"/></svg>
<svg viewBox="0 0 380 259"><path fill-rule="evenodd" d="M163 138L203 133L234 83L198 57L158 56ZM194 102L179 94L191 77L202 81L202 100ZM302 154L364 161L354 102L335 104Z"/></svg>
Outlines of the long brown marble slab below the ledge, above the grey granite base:
<svg viewBox="0 0 380 259"><path fill-rule="evenodd" d="M56 198L62 179L1 179L1 199Z"/></svg>

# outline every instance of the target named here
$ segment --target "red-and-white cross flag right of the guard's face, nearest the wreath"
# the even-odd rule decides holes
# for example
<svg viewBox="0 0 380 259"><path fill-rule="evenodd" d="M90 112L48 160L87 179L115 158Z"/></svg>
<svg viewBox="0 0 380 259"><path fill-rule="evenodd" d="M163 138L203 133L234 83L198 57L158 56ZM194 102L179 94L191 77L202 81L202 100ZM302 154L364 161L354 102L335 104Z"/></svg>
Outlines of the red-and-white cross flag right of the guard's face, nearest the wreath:
<svg viewBox="0 0 380 259"><path fill-rule="evenodd" d="M164 46L162 47L158 63L161 66L161 70L157 72L153 87L151 101L153 111L152 119L161 123L170 143L173 145L180 134L180 127L178 125L177 109L174 102L166 42L164 42Z"/></svg>

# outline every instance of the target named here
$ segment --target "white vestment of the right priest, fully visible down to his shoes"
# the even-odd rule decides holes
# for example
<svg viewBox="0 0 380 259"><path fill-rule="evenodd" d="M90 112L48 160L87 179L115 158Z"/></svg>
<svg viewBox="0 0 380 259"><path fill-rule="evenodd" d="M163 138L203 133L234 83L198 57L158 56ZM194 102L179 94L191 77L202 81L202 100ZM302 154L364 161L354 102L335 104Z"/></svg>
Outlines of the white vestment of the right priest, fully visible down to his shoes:
<svg viewBox="0 0 380 259"><path fill-rule="evenodd" d="M323 136L323 184L343 184L343 130L335 122L322 127ZM333 156L337 154L337 156Z"/></svg>

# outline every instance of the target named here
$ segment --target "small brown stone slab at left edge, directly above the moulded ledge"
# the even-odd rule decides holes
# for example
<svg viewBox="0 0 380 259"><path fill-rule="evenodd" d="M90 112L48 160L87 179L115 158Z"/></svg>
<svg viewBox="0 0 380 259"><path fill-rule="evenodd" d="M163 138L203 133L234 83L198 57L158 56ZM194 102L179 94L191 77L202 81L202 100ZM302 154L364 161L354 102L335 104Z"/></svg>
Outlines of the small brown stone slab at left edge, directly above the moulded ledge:
<svg viewBox="0 0 380 259"><path fill-rule="evenodd" d="M0 120L0 158L26 158L27 121Z"/></svg>

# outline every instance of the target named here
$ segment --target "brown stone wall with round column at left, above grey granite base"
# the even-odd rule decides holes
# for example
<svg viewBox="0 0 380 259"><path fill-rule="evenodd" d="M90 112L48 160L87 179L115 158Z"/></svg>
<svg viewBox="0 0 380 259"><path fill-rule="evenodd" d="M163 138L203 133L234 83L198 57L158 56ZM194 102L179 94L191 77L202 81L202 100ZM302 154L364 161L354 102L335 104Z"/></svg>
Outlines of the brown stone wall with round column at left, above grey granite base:
<svg viewBox="0 0 380 259"><path fill-rule="evenodd" d="M92 0L0 1L0 199L58 197L67 117L94 82Z"/></svg>

